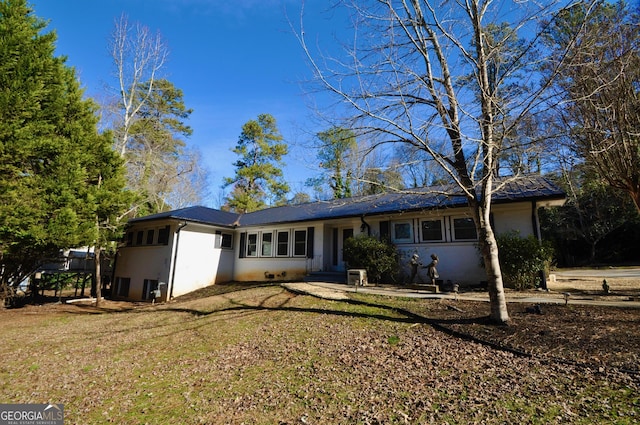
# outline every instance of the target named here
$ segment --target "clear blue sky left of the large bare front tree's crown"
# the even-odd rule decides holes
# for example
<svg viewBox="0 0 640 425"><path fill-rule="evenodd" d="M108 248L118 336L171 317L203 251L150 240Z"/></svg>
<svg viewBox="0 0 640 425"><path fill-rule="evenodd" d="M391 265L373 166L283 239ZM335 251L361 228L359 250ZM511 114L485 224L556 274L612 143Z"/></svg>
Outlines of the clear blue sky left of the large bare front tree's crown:
<svg viewBox="0 0 640 425"><path fill-rule="evenodd" d="M304 5L305 32L312 43L331 47L348 30L330 2ZM300 0L31 0L34 12L58 35L57 51L76 68L87 96L100 98L105 85L116 86L107 45L115 21L124 13L159 31L169 46L166 78L182 89L194 110L187 141L202 153L210 171L211 196L219 206L219 187L234 175L231 152L242 125L261 113L272 114L290 144L285 179L293 190L317 174L315 152L305 148L324 130L308 107L313 99L303 84L311 77L304 53L289 26L300 20Z"/></svg>

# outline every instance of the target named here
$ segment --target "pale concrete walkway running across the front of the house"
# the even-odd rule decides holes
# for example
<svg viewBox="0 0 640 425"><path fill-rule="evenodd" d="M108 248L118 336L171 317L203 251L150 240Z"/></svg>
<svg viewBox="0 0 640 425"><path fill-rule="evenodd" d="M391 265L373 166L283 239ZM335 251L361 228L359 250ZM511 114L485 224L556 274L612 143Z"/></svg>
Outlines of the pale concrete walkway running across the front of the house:
<svg viewBox="0 0 640 425"><path fill-rule="evenodd" d="M467 300L467 301L485 301L489 302L489 295L486 292L462 292L459 294L437 293L420 290L419 288L406 288L401 286L353 286L344 283L330 282L295 282L283 283L283 287L297 293L309 294L319 298L329 300L347 300L349 292L357 292L363 294L383 295L390 297L406 297L406 298L423 298L423 299L450 299L450 300ZM640 308L640 300L629 300L629 297L608 296L608 299L594 299L587 295L569 295L565 297L559 292L507 292L508 303L527 303L527 304L578 304L578 305L599 305L610 307L630 307Z"/></svg>

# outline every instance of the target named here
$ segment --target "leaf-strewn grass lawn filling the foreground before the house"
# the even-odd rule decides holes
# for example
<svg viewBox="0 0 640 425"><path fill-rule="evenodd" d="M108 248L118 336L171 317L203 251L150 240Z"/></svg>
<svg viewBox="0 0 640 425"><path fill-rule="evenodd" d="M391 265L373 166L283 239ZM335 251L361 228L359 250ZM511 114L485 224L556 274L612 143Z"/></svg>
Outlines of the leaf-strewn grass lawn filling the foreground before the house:
<svg viewBox="0 0 640 425"><path fill-rule="evenodd" d="M640 419L629 377L517 357L403 314L446 311L437 301L358 301L268 286L115 313L3 311L0 402L64 403L65 423L82 424Z"/></svg>

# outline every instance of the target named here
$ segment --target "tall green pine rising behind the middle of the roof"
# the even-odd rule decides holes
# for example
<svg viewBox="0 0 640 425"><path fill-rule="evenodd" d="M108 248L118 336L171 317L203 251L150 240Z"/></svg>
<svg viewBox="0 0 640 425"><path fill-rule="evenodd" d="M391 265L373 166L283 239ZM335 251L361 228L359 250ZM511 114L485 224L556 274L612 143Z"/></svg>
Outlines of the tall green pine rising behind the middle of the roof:
<svg viewBox="0 0 640 425"><path fill-rule="evenodd" d="M234 163L236 175L225 178L225 186L233 185L226 209L246 213L286 203L289 186L282 180L281 167L288 147L282 140L276 119L269 114L260 114L242 126L233 149L240 156Z"/></svg>

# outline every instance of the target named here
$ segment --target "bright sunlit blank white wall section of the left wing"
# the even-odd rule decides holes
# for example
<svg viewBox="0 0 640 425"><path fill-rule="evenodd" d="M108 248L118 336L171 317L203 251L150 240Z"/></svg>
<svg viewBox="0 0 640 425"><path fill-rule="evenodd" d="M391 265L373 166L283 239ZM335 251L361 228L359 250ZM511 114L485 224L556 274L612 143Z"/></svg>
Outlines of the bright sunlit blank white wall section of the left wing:
<svg viewBox="0 0 640 425"><path fill-rule="evenodd" d="M194 223L180 229L172 278L173 297L233 280L234 251L216 246L216 230Z"/></svg>

